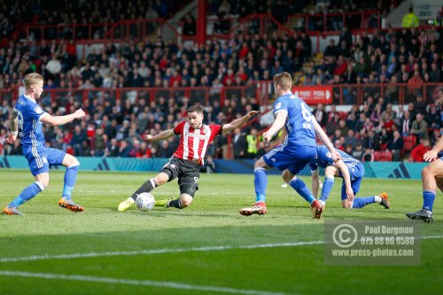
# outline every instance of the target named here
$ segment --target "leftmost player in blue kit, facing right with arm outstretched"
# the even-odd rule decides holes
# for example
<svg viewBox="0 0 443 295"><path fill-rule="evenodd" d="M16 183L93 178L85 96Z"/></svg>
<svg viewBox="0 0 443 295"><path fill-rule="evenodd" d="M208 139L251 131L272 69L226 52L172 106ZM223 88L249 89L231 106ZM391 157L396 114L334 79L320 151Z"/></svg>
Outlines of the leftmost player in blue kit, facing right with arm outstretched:
<svg viewBox="0 0 443 295"><path fill-rule="evenodd" d="M28 166L34 175L35 182L23 190L11 204L4 208L3 213L9 215L22 215L19 206L36 194L44 190L50 182L49 167L64 166L65 186L62 198L58 205L74 212L83 211L83 207L74 203L71 192L74 189L79 161L65 151L48 148L44 141L42 122L52 126L64 125L75 119L85 116L82 109L66 116L53 117L42 110L37 100L43 93L43 76L41 74L27 74L23 80L25 94L20 96L17 104L10 114L11 135L6 138L9 144L13 144L17 136L21 137L21 148L27 159Z"/></svg>

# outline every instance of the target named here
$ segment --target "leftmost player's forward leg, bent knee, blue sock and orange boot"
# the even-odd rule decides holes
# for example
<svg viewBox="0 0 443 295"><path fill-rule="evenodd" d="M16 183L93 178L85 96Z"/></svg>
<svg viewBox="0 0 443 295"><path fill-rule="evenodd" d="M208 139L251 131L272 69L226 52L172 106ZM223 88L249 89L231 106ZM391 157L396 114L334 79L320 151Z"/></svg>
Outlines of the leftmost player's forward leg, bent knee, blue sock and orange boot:
<svg viewBox="0 0 443 295"><path fill-rule="evenodd" d="M56 153L54 153L54 155L54 157L57 157ZM72 192L74 190L75 182L77 181L80 163L73 156L66 154L63 159L63 166L66 167L66 172L64 178L63 193L60 200L58 201L58 206L66 208L67 210L70 210L72 212L82 212L83 207L76 204L72 199Z"/></svg>

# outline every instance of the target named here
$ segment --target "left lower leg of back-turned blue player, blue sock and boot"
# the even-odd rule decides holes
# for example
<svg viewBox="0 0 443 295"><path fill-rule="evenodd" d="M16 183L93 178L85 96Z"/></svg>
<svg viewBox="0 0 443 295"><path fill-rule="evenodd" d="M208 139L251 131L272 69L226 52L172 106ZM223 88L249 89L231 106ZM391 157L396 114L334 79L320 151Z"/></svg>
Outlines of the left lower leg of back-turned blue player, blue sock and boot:
<svg viewBox="0 0 443 295"><path fill-rule="evenodd" d="M255 186L255 204L253 206L245 207L240 209L240 214L249 216L252 214L266 214L268 212L266 208L266 188L268 186L268 176L266 175L266 168L260 166L260 163L266 166L263 159L257 160L255 162L254 175L254 186Z"/></svg>

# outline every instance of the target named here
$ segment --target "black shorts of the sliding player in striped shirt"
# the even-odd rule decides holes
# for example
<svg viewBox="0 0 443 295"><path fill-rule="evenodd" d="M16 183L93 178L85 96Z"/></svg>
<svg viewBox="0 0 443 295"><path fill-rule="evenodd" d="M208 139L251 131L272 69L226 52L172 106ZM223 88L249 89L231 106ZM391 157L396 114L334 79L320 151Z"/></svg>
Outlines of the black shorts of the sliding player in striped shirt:
<svg viewBox="0 0 443 295"><path fill-rule="evenodd" d="M168 182L175 179L175 177L178 177L178 185L192 184L196 187L196 190L198 190L198 178L200 177L199 171L200 167L196 163L188 159L172 157L160 172L171 175Z"/></svg>

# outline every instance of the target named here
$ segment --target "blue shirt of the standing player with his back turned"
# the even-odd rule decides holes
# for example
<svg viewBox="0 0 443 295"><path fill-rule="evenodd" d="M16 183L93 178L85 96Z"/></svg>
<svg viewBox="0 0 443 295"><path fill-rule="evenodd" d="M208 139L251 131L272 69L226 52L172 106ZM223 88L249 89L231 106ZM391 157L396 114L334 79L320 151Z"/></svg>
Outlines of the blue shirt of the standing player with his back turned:
<svg viewBox="0 0 443 295"><path fill-rule="evenodd" d="M281 111L288 113L284 125L288 133L288 146L315 146L315 128L312 123L315 118L307 104L288 93L278 97L274 104L274 115Z"/></svg>

